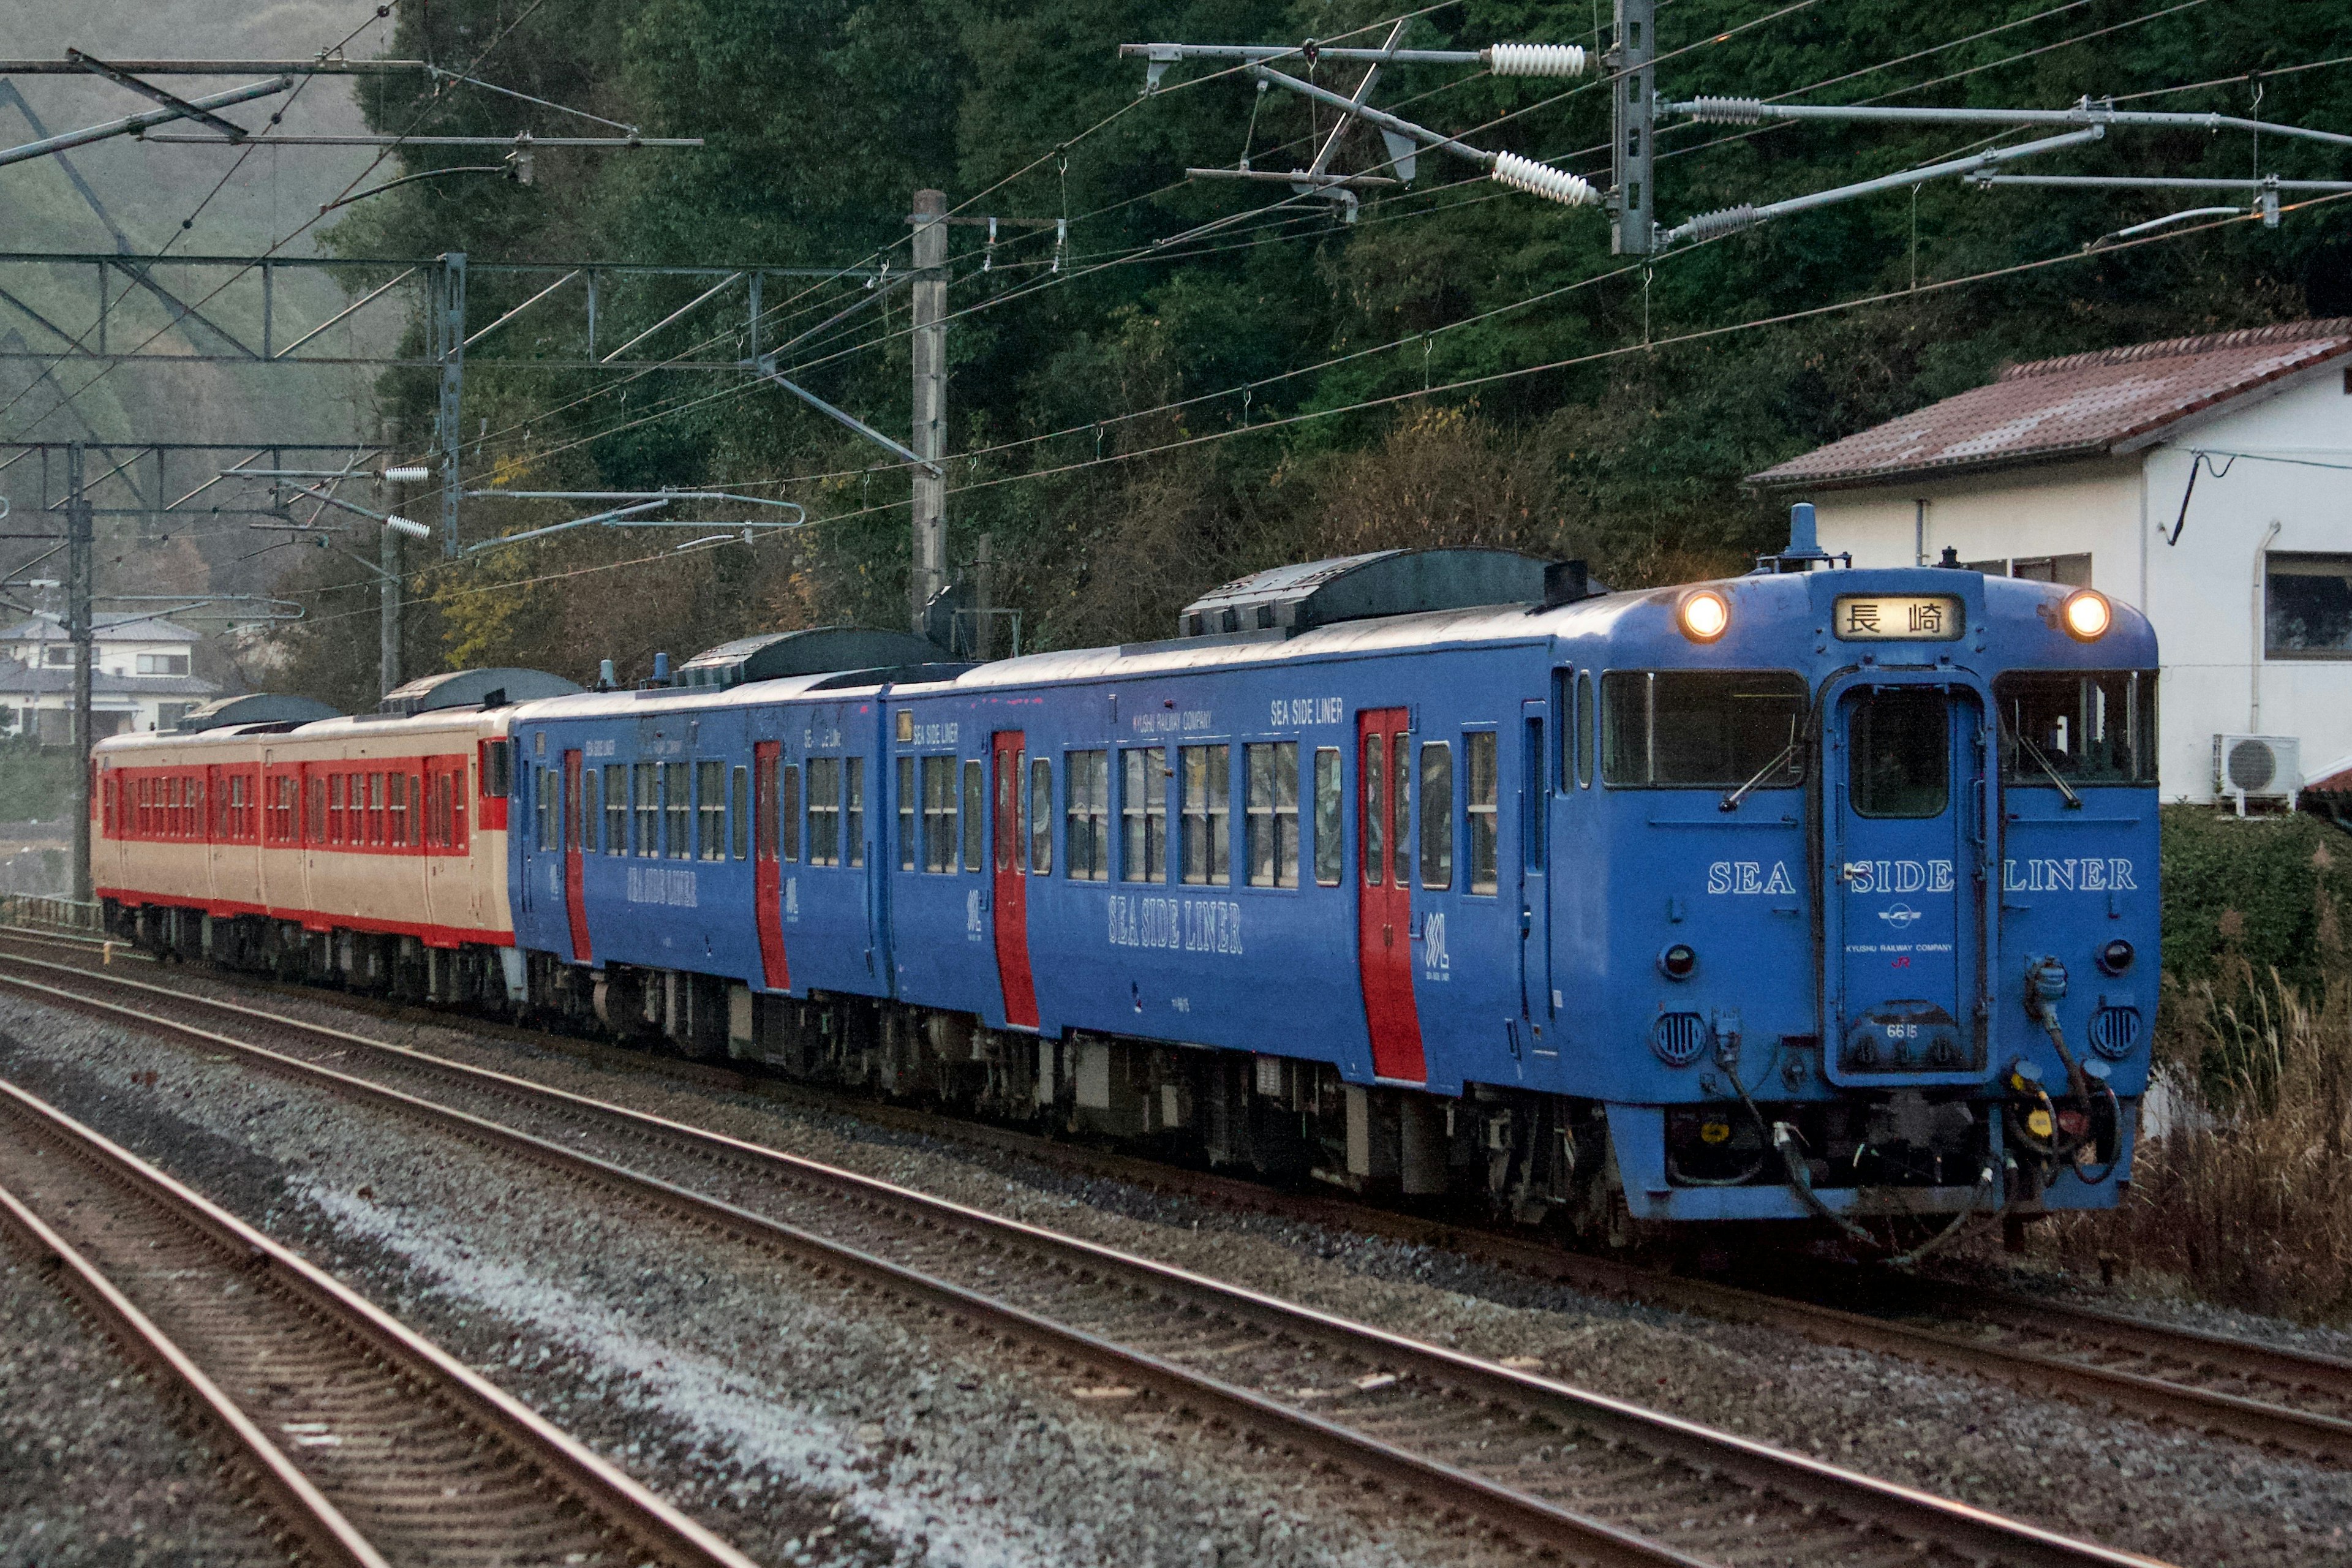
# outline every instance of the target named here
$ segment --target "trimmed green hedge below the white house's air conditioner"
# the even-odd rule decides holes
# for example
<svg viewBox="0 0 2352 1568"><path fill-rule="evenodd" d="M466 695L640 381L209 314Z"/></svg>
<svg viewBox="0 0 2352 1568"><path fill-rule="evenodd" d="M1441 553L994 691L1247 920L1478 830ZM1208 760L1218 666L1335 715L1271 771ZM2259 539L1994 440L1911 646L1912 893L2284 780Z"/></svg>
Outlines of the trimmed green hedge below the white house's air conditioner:
<svg viewBox="0 0 2352 1568"><path fill-rule="evenodd" d="M2328 959L2343 959L2352 839L2300 811L2241 820L2164 806L2161 823L2164 971L2183 983L2277 971L2317 992Z"/></svg>

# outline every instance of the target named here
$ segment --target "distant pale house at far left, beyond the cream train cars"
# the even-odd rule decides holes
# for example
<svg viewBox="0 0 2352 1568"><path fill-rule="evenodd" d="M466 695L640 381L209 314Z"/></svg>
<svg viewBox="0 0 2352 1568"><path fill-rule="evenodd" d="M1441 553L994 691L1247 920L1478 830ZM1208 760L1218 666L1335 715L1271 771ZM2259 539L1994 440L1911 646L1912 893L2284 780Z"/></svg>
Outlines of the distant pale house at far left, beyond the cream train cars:
<svg viewBox="0 0 2352 1568"><path fill-rule="evenodd" d="M136 614L96 616L89 646L89 738L172 729L221 693L193 672L198 635ZM42 745L73 743L73 642L64 618L35 614L0 632L0 717Z"/></svg>

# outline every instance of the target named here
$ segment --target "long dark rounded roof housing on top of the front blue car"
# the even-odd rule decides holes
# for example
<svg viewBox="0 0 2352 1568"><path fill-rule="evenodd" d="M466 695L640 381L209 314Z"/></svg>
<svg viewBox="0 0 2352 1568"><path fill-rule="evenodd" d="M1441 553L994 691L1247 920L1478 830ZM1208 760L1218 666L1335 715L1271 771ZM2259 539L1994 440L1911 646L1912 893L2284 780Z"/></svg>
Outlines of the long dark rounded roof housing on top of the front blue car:
<svg viewBox="0 0 2352 1568"><path fill-rule="evenodd" d="M1176 616L1178 637L1294 637L1338 621L1477 604L1541 604L1543 562L1517 550L1374 550L1268 567L1204 592Z"/></svg>

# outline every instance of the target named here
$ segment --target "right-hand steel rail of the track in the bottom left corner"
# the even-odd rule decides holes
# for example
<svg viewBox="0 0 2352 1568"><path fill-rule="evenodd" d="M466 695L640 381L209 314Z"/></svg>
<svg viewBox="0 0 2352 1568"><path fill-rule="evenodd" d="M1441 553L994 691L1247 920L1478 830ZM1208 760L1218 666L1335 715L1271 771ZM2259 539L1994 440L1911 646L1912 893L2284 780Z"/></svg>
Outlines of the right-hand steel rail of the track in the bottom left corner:
<svg viewBox="0 0 2352 1568"><path fill-rule="evenodd" d="M193 1187L5 1079L0 1079L0 1112L35 1121L118 1187L132 1190L136 1197L162 1208L174 1222L200 1232L214 1246L247 1260L247 1267L266 1267L273 1284L285 1288L287 1295L296 1298L355 1345L362 1345L386 1366L430 1387L437 1399L447 1401L482 1432L501 1439L524 1462L536 1467L543 1479L602 1514L604 1523L633 1535L640 1549L652 1549L684 1568L755 1568L741 1552L649 1493L619 1467L597 1458L586 1443L541 1418L520 1399L499 1389L301 1253L254 1229ZM45 1246L61 1244L45 1241ZM355 1533L353 1547L350 1561L367 1561L372 1566L383 1561Z"/></svg>

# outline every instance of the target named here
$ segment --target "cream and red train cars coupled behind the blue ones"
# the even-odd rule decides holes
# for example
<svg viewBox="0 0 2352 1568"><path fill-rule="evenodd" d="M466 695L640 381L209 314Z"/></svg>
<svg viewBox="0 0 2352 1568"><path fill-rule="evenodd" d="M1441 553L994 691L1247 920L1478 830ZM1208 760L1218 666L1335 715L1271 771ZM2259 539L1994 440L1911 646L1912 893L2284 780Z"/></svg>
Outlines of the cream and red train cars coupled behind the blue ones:
<svg viewBox="0 0 2352 1568"><path fill-rule="evenodd" d="M461 670L372 715L101 741L108 931L287 978L520 999L506 736L515 703L567 691L539 670Z"/></svg>

